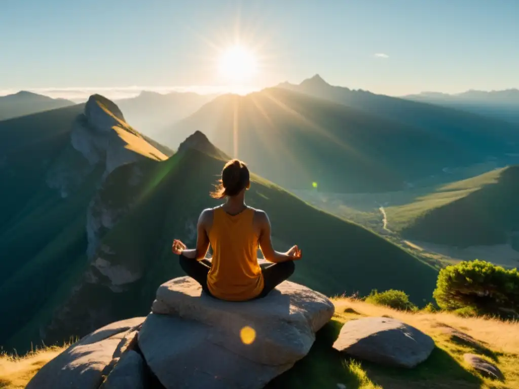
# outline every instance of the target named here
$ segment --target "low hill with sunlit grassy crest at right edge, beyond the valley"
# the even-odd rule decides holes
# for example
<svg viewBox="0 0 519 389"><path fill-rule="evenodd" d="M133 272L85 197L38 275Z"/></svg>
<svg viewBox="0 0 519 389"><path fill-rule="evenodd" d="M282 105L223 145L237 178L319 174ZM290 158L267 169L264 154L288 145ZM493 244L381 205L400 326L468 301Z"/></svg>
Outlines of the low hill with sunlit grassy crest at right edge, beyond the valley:
<svg viewBox="0 0 519 389"><path fill-rule="evenodd" d="M389 228L409 239L459 247L510 242L519 231L519 166L444 185L386 213Z"/></svg>

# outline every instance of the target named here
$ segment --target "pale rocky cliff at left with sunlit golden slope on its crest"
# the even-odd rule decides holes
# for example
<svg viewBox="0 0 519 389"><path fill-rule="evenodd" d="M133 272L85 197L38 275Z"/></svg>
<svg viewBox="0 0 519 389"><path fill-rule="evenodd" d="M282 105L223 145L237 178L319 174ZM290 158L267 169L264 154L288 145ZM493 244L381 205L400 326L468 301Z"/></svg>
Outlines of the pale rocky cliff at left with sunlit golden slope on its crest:
<svg viewBox="0 0 519 389"><path fill-rule="evenodd" d="M119 166L149 158L131 147L134 140L145 142L128 126L117 105L103 96L92 95L85 104L84 113L72 123L70 145L47 172L47 185L66 198L78 190L94 169L102 171L101 176L93 178L91 183L98 191L87 208L88 258L95 254L102 236L133 206L134 198L131 196L126 196L124 201L112 201L102 193L106 192L106 184L110 186L110 174ZM157 159L166 159L153 146L146 146L158 156ZM136 186L141 182L143 172L139 166L133 166L128 173L125 184Z"/></svg>

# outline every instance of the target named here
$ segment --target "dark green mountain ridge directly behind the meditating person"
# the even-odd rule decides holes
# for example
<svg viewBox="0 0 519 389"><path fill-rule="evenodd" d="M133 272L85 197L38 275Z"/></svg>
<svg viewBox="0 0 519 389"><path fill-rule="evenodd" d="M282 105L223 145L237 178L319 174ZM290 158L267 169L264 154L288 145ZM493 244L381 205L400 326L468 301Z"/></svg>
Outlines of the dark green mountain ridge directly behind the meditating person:
<svg viewBox="0 0 519 389"><path fill-rule="evenodd" d="M42 331L51 343L64 334L85 334L101 323L148 312L157 286L182 274L171 253L172 239L195 244L200 211L217 205L208 193L223 163L193 148L167 161L138 162L147 178L135 189L139 200L132 212L103 237L74 293L59 291L67 298L54 307L50 322L50 307L44 307L11 341L34 339ZM111 187L103 196L119 198L130 168L120 166L108 177ZM398 246L256 175L247 196L248 204L268 212L277 249L294 243L302 247L304 259L296 265L294 281L330 295L399 288L419 304L430 300L436 271Z"/></svg>

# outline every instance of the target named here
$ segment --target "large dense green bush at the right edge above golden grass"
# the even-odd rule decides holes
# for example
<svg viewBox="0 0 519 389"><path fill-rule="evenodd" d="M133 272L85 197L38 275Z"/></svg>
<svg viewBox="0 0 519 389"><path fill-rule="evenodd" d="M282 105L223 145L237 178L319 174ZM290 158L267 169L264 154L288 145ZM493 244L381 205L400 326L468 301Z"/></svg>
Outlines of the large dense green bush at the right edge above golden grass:
<svg viewBox="0 0 519 389"><path fill-rule="evenodd" d="M519 312L519 272L490 262L463 261L440 270L433 297L448 311L514 317Z"/></svg>

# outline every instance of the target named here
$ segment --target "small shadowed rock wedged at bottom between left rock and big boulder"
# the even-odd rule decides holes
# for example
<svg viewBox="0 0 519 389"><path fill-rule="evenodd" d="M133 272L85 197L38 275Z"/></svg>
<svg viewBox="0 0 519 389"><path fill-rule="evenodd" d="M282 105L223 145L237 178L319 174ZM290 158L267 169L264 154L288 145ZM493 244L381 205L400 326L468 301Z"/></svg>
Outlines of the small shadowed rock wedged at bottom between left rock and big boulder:
<svg viewBox="0 0 519 389"><path fill-rule="evenodd" d="M101 389L144 389L145 368L144 359L139 353L130 350L119 359Z"/></svg>

